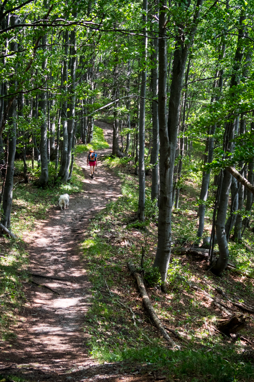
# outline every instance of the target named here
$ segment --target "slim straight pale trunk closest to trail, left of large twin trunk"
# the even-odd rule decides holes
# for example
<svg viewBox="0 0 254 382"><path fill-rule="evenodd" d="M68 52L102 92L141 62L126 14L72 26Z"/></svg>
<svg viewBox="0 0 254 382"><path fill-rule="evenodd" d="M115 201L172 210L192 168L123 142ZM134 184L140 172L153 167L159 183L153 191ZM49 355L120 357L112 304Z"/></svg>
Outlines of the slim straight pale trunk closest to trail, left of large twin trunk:
<svg viewBox="0 0 254 382"><path fill-rule="evenodd" d="M144 37L142 44L142 64L146 65L147 61L147 0L143 0L143 23ZM140 110L139 110L139 198L137 217L141 221L145 221L145 201L146 201L146 174L145 174L145 119L146 119L146 88L147 88L147 68L142 70L141 86L140 86Z"/></svg>

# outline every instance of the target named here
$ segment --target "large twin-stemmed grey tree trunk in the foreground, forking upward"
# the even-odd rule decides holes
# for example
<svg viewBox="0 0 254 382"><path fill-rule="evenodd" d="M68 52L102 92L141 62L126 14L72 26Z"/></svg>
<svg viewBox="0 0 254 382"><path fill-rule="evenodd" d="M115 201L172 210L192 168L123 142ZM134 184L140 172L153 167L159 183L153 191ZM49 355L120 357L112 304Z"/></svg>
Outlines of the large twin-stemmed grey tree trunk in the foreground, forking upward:
<svg viewBox="0 0 254 382"><path fill-rule="evenodd" d="M189 33L188 43L184 43L182 25L178 25L176 36L174 62L172 68L172 81L168 106L168 122L166 127L166 9L167 2L160 3L159 15L159 134L160 134L160 206L158 219L158 247L153 266L158 266L162 282L166 281L167 269L171 250L171 216L172 216L172 194L175 152L177 145L177 132L179 124L179 112L181 103L181 91L185 72L188 50L193 43L197 28L197 20L203 0L197 0L193 26ZM185 3L180 5L185 6ZM181 32L180 32L181 31Z"/></svg>

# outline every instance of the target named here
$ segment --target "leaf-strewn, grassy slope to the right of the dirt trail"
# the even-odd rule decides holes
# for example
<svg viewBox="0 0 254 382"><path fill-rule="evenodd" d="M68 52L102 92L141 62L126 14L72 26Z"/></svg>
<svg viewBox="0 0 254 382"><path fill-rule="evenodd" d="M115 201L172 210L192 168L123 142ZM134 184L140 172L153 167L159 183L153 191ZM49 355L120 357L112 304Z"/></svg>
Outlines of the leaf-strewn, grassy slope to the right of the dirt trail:
<svg viewBox="0 0 254 382"><path fill-rule="evenodd" d="M252 280L242 282L232 272L218 279L207 271L203 262L199 266L188 256L171 256L167 277L169 290L167 295L163 294L158 272L149 273L156 253L158 209L149 199L147 183L146 219L144 223L137 221L137 178L126 173L128 168L122 172L124 161L127 159L106 160L111 167L116 165L123 196L110 202L105 211L92 219L90 233L83 243L93 285L91 308L85 320L85 331L90 335L88 351L101 362L130 360L164 369L168 377L174 376L179 381L254 381L254 366L249 362L251 358L243 356L243 343L237 338L235 343L225 340L213 329L221 312L190 286L194 283L211 296L216 295L215 287L220 286L229 295L235 291L239 296L246 293L249 301L254 298ZM188 246L195 240L196 213L191 210L189 200L187 205L185 203L189 192L194 201L194 191L194 185L187 184L183 190L186 196L173 217L176 246ZM150 301L164 325L185 339L181 342L181 351L167 349L144 312L134 280L129 275L128 261L133 261L141 272L142 247ZM247 266L250 256L245 258L245 252L242 254L237 249L235 254L231 253L235 261L241 256L242 266ZM242 332L248 337L252 333L253 326Z"/></svg>

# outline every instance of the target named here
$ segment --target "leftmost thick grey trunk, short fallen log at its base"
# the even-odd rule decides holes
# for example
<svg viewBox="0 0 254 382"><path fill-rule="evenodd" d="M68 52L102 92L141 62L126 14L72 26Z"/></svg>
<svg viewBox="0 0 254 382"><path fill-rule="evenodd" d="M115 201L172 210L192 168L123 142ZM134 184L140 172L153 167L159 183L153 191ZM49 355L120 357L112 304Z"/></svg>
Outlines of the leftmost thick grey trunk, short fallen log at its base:
<svg viewBox="0 0 254 382"><path fill-rule="evenodd" d="M10 23L12 26L18 24L18 17L13 15L10 17ZM10 43L10 52L17 51L17 43L12 41ZM15 76L15 73L14 73ZM17 82L15 79L10 81L10 90L15 92L17 88ZM7 157L7 169L5 175L5 183L2 194L2 214L1 214L1 224L10 228L11 226L11 211L12 211L12 200L13 200L13 176L14 176L14 160L16 152L16 110L17 110L17 99L14 98L12 105L8 113L8 125L9 125L9 147L8 147L8 157Z"/></svg>

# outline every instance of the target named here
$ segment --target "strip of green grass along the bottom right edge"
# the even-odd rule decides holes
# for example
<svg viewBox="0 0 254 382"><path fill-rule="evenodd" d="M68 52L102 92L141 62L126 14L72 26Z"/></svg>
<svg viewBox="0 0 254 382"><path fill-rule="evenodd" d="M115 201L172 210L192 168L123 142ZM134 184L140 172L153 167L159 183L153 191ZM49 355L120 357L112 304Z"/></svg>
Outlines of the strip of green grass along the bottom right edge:
<svg viewBox="0 0 254 382"><path fill-rule="evenodd" d="M155 369L163 370L180 381L204 381L204 376L209 381L253 381L254 365L244 362L244 357L237 352L235 347L210 346L204 349L170 350L159 345L136 346L135 348L114 349L100 344L94 346L94 357L106 362L116 362L128 359L134 363L154 365Z"/></svg>

